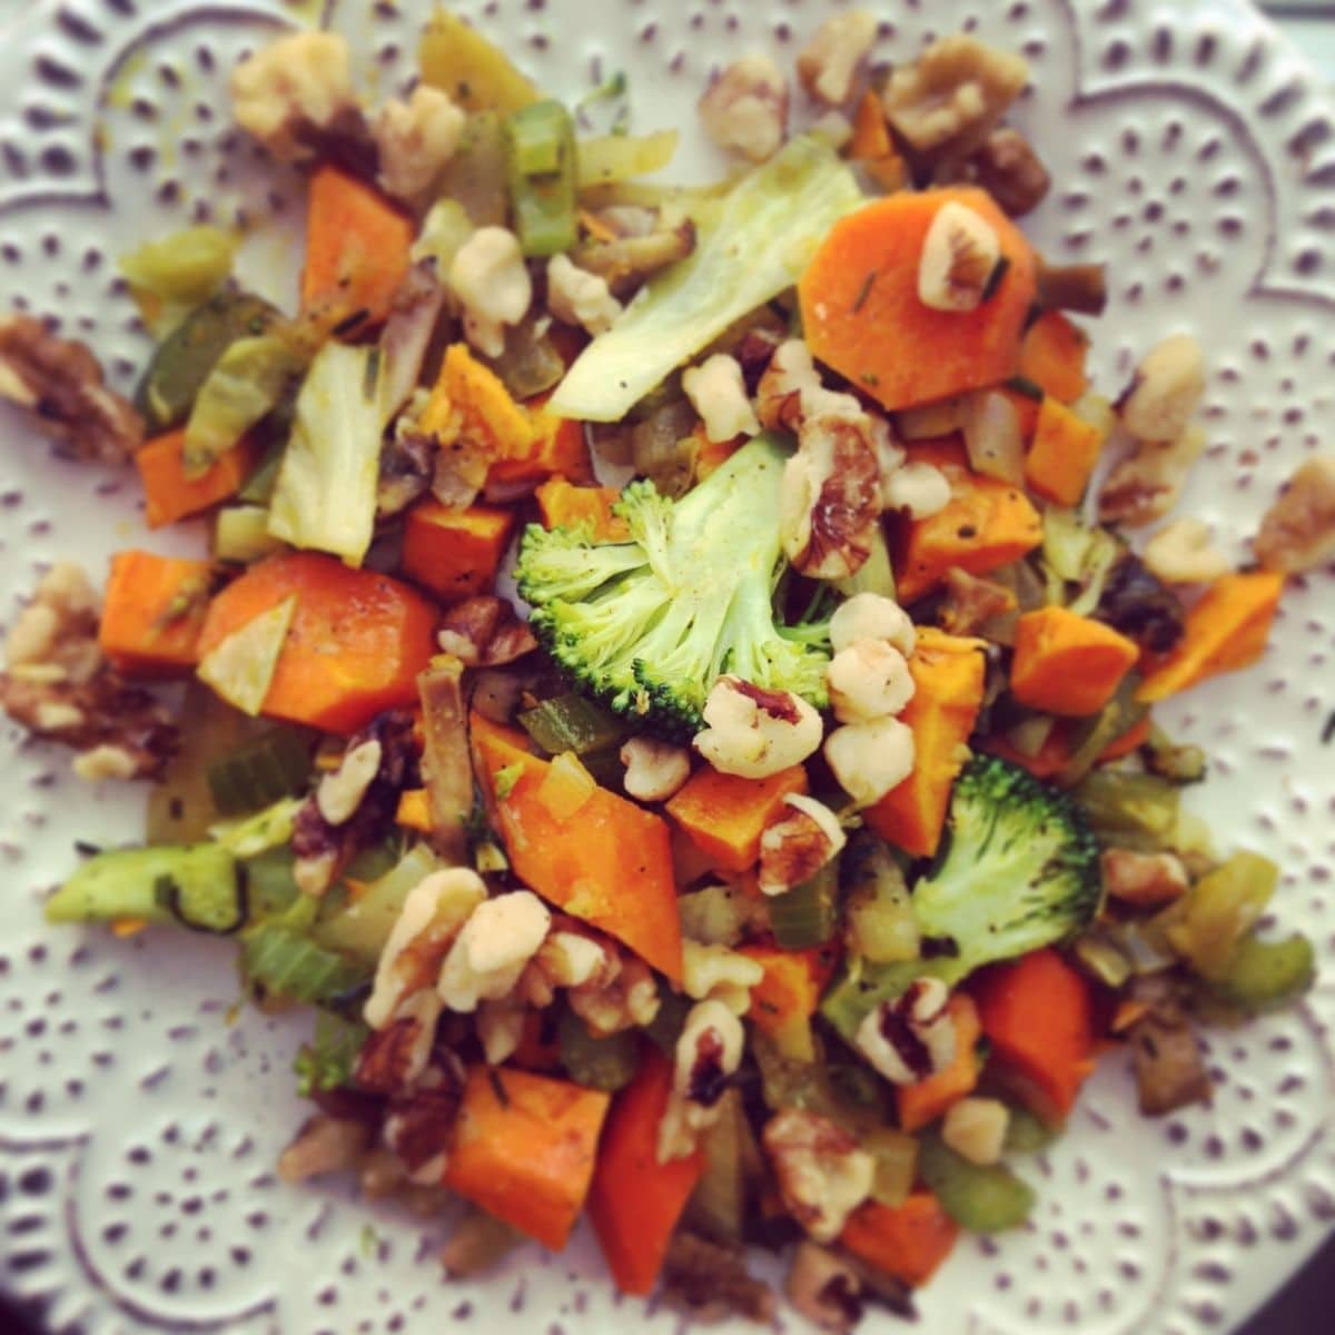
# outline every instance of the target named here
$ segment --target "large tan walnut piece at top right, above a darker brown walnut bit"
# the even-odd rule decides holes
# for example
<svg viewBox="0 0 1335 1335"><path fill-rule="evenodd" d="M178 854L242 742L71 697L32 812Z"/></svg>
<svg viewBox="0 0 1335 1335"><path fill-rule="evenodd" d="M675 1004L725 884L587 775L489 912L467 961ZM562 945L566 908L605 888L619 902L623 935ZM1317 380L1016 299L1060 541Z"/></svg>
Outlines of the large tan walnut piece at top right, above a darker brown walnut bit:
<svg viewBox="0 0 1335 1335"><path fill-rule="evenodd" d="M996 128L1029 79L1020 56L977 37L941 37L896 69L881 95L886 119L922 160L967 158Z"/></svg>

